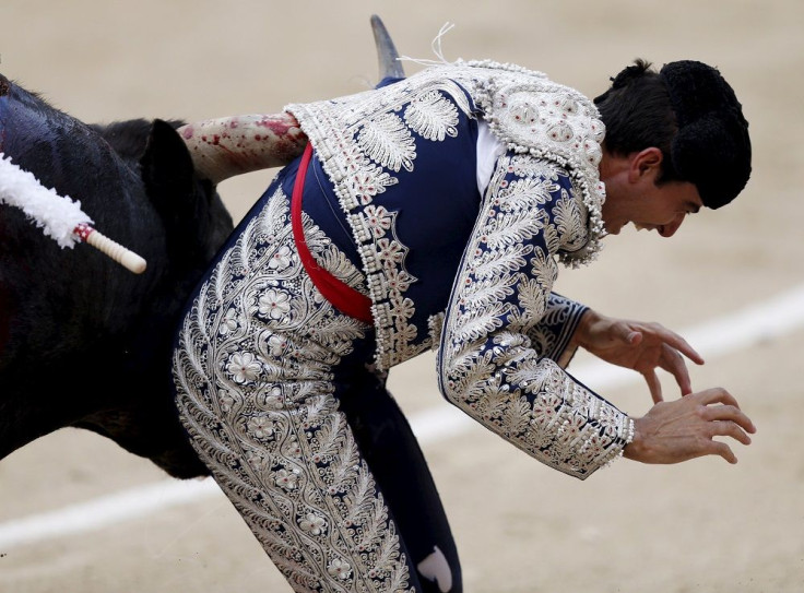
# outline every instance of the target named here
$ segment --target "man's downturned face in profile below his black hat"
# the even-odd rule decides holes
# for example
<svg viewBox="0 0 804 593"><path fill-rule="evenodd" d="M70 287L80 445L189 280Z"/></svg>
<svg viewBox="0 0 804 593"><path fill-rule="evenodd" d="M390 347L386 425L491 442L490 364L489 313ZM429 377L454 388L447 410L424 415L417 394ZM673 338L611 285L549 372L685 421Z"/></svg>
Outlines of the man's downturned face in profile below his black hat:
<svg viewBox="0 0 804 593"><path fill-rule="evenodd" d="M610 198L603 204L603 223L610 235L618 235L625 225L634 223L638 229L672 237L687 214L698 212L704 205L697 188L689 182L650 183L623 199L613 189Z"/></svg>

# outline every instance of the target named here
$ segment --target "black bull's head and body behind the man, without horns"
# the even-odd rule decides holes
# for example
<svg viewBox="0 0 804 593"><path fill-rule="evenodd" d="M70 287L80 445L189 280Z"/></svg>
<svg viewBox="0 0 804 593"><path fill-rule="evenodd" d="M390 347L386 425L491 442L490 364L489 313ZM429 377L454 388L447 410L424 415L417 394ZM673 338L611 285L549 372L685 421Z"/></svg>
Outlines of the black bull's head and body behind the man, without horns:
<svg viewBox="0 0 804 593"><path fill-rule="evenodd" d="M178 124L86 126L0 75L0 152L149 263L138 276L88 246L60 249L0 205L0 459L72 426L173 476L208 474L176 419L169 368L185 300L232 218Z"/></svg>

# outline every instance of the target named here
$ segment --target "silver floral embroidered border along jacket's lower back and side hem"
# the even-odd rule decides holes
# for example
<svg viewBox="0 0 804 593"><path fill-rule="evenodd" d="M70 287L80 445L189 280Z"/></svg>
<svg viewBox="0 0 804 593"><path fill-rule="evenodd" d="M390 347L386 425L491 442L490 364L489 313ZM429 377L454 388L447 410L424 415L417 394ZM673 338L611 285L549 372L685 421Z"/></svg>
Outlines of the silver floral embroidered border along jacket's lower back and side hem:
<svg viewBox="0 0 804 593"><path fill-rule="evenodd" d="M397 174L414 169L416 142L454 138L459 109L468 114L471 108L449 79L428 79L416 87L401 81L387 88L381 106L375 94L362 93L286 107L311 139L358 241L380 369L426 349L429 332L411 322L415 305L404 293L417 278L405 269L409 249L397 236L395 213L374 204L374 198L399 182Z"/></svg>

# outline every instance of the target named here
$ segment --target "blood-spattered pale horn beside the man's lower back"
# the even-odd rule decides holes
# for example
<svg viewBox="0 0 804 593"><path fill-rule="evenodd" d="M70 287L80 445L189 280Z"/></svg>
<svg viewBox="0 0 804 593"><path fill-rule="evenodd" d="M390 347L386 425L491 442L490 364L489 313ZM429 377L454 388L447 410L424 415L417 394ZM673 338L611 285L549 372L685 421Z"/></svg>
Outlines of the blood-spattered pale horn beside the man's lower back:
<svg viewBox="0 0 804 593"><path fill-rule="evenodd" d="M307 137L291 114L236 116L178 129L200 177L213 183L271 167L302 154Z"/></svg>

